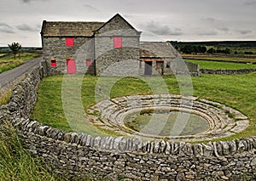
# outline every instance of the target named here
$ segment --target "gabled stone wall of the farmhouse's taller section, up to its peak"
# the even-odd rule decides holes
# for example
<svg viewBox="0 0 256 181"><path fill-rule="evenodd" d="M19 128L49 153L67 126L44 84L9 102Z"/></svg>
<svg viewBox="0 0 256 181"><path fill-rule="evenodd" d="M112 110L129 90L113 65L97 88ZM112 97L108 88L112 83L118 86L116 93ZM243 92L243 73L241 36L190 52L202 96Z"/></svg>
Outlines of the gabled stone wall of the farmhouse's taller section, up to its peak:
<svg viewBox="0 0 256 181"><path fill-rule="evenodd" d="M114 37L122 38L122 48L114 48ZM138 76L139 42L140 32L119 15L114 16L95 36L96 75Z"/></svg>

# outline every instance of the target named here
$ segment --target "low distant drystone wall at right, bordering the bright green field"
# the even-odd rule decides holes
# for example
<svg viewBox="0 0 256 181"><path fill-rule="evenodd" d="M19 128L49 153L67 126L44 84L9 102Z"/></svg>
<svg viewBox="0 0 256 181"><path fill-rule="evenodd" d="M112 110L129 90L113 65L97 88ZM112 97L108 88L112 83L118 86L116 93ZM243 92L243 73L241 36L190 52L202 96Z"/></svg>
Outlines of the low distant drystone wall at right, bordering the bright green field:
<svg viewBox="0 0 256 181"><path fill-rule="evenodd" d="M220 74L220 75L232 75L232 74L246 74L256 69L239 69L239 70L209 70L209 69L201 69L202 74Z"/></svg>

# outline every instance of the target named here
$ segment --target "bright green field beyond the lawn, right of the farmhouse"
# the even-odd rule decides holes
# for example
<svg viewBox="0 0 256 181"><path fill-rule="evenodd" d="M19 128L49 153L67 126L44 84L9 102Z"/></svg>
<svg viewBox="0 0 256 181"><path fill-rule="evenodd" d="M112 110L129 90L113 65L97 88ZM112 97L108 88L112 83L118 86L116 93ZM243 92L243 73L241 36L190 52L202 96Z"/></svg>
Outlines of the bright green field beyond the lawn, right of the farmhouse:
<svg viewBox="0 0 256 181"><path fill-rule="evenodd" d="M238 70L238 69L256 69L256 65L247 63L233 63L233 62L220 62L220 61L207 61L207 60L196 60L186 59L190 62L200 65L201 69L210 70Z"/></svg>

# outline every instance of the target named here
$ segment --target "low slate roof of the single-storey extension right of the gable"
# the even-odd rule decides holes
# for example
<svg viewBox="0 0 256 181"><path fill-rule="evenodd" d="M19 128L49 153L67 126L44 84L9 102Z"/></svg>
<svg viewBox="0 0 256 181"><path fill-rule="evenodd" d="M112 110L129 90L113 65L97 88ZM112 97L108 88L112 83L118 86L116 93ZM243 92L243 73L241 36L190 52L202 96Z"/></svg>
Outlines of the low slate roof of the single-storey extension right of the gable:
<svg viewBox="0 0 256 181"><path fill-rule="evenodd" d="M177 51L170 42L141 42L141 58L175 58Z"/></svg>

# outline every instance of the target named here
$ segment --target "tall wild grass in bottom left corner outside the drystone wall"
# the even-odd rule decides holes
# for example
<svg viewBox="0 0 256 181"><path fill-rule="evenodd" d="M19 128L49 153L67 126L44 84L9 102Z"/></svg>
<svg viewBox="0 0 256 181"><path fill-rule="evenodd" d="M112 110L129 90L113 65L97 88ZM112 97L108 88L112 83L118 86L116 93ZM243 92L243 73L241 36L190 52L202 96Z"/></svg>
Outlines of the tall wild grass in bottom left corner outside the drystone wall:
<svg viewBox="0 0 256 181"><path fill-rule="evenodd" d="M22 147L15 128L0 122L0 181L65 180Z"/></svg>

